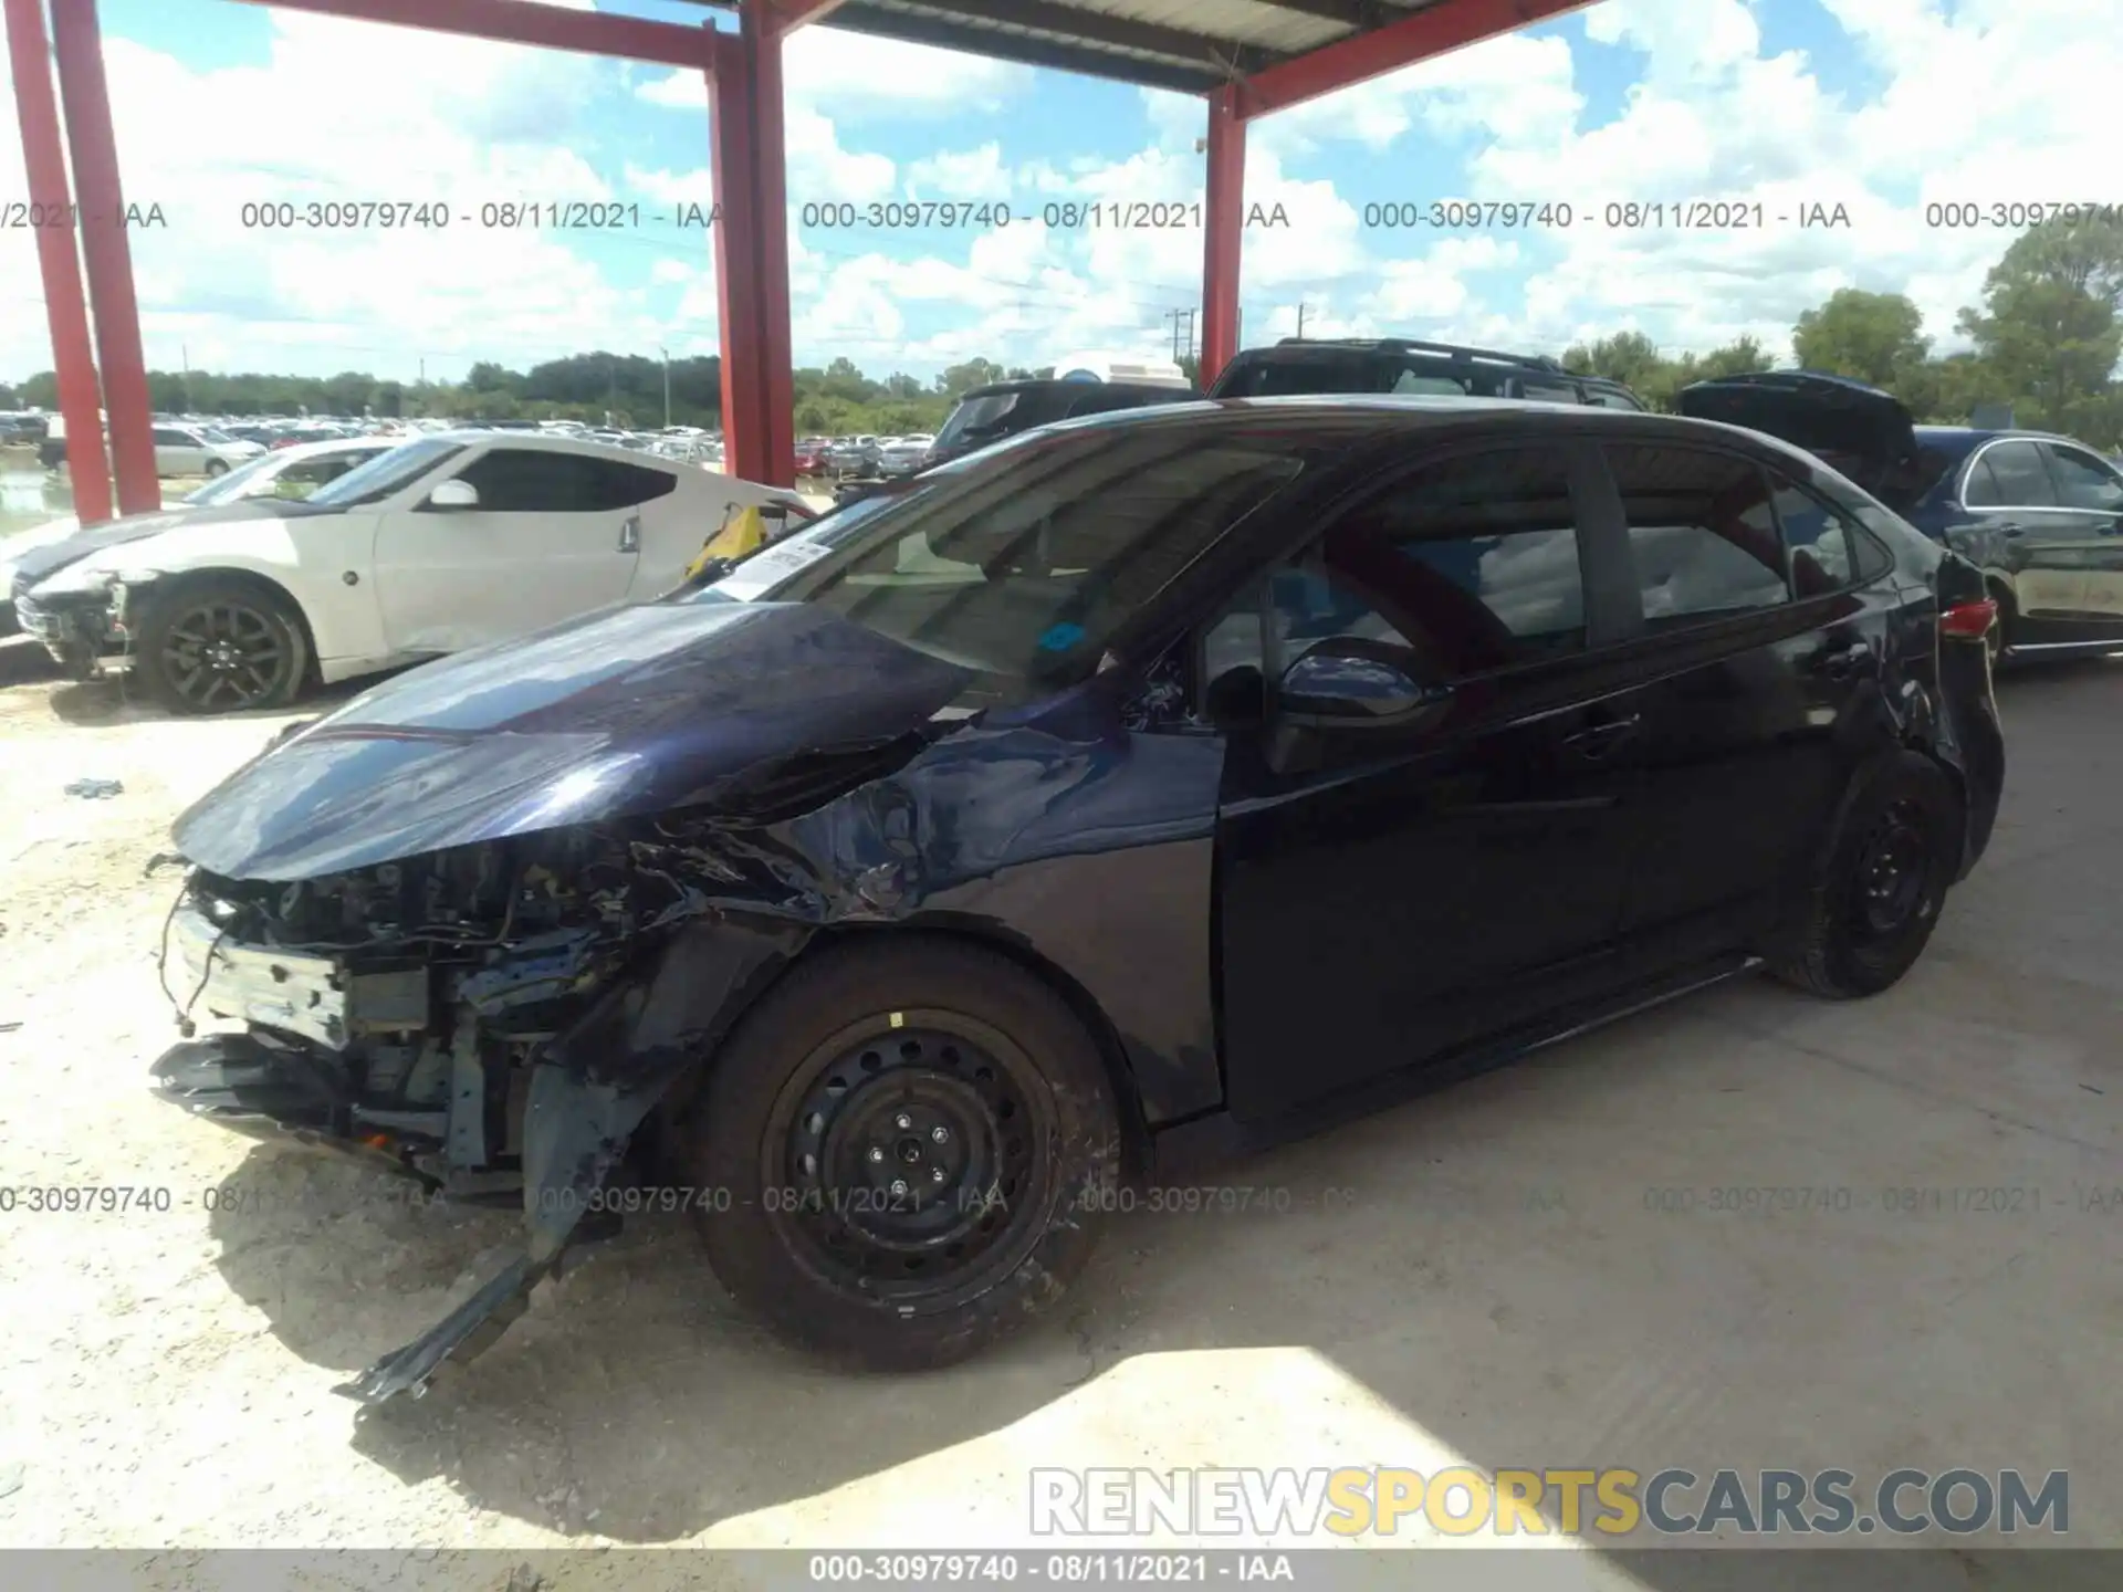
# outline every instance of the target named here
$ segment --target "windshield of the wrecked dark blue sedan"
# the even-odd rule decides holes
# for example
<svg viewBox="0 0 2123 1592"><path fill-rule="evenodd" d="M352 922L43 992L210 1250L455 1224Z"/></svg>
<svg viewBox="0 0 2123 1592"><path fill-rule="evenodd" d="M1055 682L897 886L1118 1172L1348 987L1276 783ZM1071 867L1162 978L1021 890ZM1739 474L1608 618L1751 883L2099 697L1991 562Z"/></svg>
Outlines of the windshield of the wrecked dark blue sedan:
<svg viewBox="0 0 2123 1592"><path fill-rule="evenodd" d="M1267 427L1013 439L826 516L709 592L817 603L970 669L985 700L1030 700L1087 679L1119 628L1310 456Z"/></svg>

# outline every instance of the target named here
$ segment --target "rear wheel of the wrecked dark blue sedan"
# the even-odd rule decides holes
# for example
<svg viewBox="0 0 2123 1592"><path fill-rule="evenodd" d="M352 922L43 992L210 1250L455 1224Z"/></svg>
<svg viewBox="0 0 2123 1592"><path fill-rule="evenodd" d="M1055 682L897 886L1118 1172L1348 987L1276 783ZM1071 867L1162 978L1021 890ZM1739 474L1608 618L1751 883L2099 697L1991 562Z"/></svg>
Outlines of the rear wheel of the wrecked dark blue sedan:
<svg viewBox="0 0 2123 1592"><path fill-rule="evenodd" d="M1877 996L1909 972L1938 925L1962 845L1962 800L1930 758L1896 751L1864 768L1815 866L1785 983L1830 1000Z"/></svg>

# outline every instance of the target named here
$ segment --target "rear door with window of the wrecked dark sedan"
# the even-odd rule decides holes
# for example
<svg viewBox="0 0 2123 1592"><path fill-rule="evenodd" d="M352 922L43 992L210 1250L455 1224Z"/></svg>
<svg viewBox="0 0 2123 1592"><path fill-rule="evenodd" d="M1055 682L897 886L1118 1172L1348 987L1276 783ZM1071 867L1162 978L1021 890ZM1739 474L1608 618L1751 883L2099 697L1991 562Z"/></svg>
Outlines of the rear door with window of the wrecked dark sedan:
<svg viewBox="0 0 2123 1592"><path fill-rule="evenodd" d="M1647 964L1751 945L1813 858L1877 696L1892 571L1826 503L1751 454L1645 439L1605 450L1643 637L1643 796L1624 928Z"/></svg>

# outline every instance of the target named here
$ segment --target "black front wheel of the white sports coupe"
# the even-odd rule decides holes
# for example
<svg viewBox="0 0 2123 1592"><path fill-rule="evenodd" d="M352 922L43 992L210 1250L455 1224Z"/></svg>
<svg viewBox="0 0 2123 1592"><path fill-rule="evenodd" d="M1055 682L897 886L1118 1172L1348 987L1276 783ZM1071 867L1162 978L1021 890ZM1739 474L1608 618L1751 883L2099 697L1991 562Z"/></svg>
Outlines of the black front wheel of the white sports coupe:
<svg viewBox="0 0 2123 1592"><path fill-rule="evenodd" d="M248 579L206 577L155 592L134 630L134 669L172 713L284 707L308 667L287 599Z"/></svg>

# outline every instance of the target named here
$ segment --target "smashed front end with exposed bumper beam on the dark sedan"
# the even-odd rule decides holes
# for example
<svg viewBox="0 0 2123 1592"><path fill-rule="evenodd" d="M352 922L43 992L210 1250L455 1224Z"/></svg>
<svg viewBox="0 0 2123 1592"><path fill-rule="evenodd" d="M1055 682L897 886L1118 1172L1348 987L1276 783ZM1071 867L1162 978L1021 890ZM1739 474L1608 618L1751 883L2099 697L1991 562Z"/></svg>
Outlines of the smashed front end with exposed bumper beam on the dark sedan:
<svg viewBox="0 0 2123 1592"><path fill-rule="evenodd" d="M291 883L185 881L163 987L187 1034L200 1017L244 1029L168 1051L157 1095L439 1197L524 1204L524 1252L342 1392L418 1392L444 1356L497 1337L571 1240L601 1235L584 1216L713 1044L713 1015L800 945L711 906L715 887L749 889L703 845L709 828L582 826Z"/></svg>

